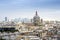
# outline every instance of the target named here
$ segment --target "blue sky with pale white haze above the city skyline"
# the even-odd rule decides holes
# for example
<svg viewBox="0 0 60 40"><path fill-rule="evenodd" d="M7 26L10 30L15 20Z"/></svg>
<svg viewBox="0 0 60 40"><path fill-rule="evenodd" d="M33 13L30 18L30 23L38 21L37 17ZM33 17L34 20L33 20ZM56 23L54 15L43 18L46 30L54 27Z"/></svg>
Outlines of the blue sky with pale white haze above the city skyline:
<svg viewBox="0 0 60 40"><path fill-rule="evenodd" d="M0 0L0 20L31 19L35 11L43 20L60 20L60 0Z"/></svg>

